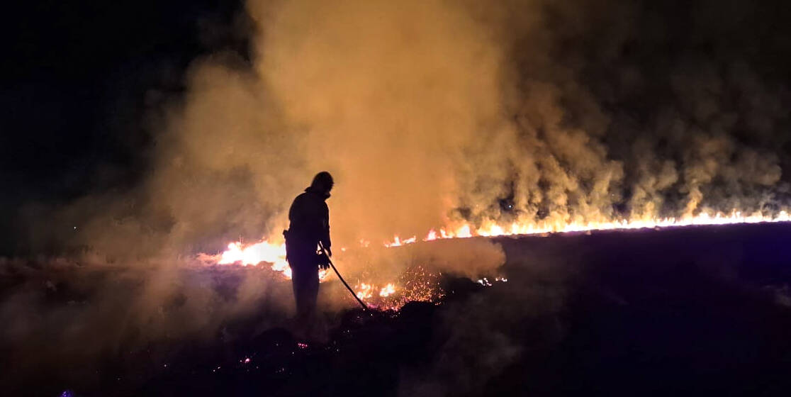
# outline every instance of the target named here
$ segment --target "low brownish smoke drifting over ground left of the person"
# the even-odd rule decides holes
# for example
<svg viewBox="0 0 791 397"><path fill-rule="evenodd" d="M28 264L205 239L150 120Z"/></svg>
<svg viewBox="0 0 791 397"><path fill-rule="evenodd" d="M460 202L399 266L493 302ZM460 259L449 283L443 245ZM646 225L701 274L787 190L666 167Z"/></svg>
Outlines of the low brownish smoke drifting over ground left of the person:
<svg viewBox="0 0 791 397"><path fill-rule="evenodd" d="M290 285L262 267L0 259L0 274L0 384L11 390L31 379L88 387L124 365L145 381L146 366L282 326L290 310Z"/></svg>

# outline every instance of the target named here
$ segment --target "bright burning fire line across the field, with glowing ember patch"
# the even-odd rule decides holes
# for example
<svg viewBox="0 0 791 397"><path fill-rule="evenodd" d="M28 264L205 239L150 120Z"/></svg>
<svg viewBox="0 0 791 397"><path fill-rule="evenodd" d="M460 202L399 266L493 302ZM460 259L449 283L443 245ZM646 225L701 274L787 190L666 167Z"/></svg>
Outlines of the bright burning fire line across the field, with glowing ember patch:
<svg viewBox="0 0 791 397"><path fill-rule="evenodd" d="M502 227L494 223L483 226L481 228L472 228L469 224L457 226L454 229L441 228L439 232L431 229L426 237L421 240L424 242L434 240L448 240L448 239L464 239L473 236L483 237L498 237L498 236L547 236L549 233L591 233L593 231L607 231L607 230L629 230L629 229L660 229L660 228L679 228L688 226L702 226L702 225L740 225L740 224L755 224L755 223L776 223L788 222L791 217L780 211L777 215L766 216L760 213L743 215L734 210L730 214L717 213L698 214L695 217L684 217L682 219L665 218L665 219L647 219L647 220L620 220L620 221L604 221L604 222L589 222L586 224L551 224L551 223L530 223L519 224L514 222L511 225ZM392 241L384 242L382 245L385 248L396 248L402 245L414 244L418 241L417 236L411 236L406 239L401 239L395 236ZM371 243L367 240L360 240L360 246L356 249L367 250L370 248ZM460 249L469 249L463 247ZM347 248L341 248L341 260L344 259L343 253ZM440 250L437 250L440 251ZM472 255L467 251L467 255ZM439 286L439 278L441 272L437 270L436 273L426 270L423 266L431 264L432 268L441 268L437 264L437 259L441 263L447 263L448 259L430 257L418 259L415 263L415 254L411 252L408 260L402 260L401 263L407 263L406 270L399 275L397 280L383 279L377 274L370 274L374 269L366 268L365 271L357 278L354 283L354 291L358 298L365 302L371 308L378 308L383 310L398 310L411 301L437 301L444 292ZM417 255L419 257L419 254ZM399 255L403 258L403 255ZM336 258L337 259L337 258ZM291 269L286 262L286 244L281 240L267 240L263 239L257 243L244 244L243 242L234 242L228 244L228 249L222 251L217 255L199 254L198 260L206 266L263 266L271 267L271 270L281 272L284 279L291 278ZM428 263L421 263L420 261L427 261ZM469 260L469 259L465 259ZM498 266L501 263L496 263ZM496 269L490 271L497 271ZM480 274L479 274L480 275ZM331 277L331 270L320 270L320 282L324 282L327 278ZM489 278L481 275L482 278L478 279L481 285L491 285ZM507 282L507 278L503 276L496 276L490 278L494 282Z"/></svg>

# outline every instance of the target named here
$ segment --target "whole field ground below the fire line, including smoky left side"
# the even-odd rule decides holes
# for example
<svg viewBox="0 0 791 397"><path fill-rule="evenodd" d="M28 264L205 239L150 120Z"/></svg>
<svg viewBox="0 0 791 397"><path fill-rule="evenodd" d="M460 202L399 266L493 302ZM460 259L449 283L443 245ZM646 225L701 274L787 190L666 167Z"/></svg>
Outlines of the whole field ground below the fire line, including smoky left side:
<svg viewBox="0 0 791 397"><path fill-rule="evenodd" d="M155 268L132 274L86 263L6 262L4 340L13 344L3 347L4 390L784 395L791 387L789 238L784 222L470 237L462 240L486 240L505 253L499 275L407 271L392 282L395 300L361 282L358 296L377 309L340 298L346 303L324 309L323 335L312 339L289 331L278 302L290 282L264 263L185 264L168 279L183 284L165 287L145 285ZM439 243L415 247L433 251ZM96 288L108 282L112 293ZM414 290L410 282L424 282L418 290L430 294L399 295ZM345 293L332 278L323 284L321 300ZM157 288L170 293L150 302L156 312L136 318L141 295L153 299ZM23 299L36 318L9 313Z"/></svg>

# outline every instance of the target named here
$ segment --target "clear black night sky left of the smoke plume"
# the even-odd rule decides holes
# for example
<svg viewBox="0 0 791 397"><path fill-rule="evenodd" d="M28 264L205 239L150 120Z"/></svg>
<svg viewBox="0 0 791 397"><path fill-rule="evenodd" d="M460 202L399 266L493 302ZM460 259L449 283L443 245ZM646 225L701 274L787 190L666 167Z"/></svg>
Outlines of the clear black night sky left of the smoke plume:
<svg viewBox="0 0 791 397"><path fill-rule="evenodd" d="M21 205L123 188L146 172L150 109L191 60L244 52L239 2L21 2L5 9L0 227ZM9 236L13 239L13 236ZM0 248L12 244L8 237ZM2 250L0 250L2 251Z"/></svg>

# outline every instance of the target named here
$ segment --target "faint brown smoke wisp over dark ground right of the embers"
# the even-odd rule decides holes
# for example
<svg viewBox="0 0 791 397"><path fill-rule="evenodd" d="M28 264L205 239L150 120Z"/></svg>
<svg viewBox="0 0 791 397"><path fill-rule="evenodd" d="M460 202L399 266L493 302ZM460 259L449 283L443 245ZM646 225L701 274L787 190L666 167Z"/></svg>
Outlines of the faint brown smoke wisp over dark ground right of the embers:
<svg viewBox="0 0 791 397"><path fill-rule="evenodd" d="M524 378L524 361L542 362L558 354L567 336L567 293L573 289L585 254L568 254L553 244L509 244L508 282L498 282L464 300L443 304L432 335L432 359L404 366L399 395L486 395L498 376ZM582 262L581 262L582 261ZM494 387L493 387L494 386Z"/></svg>

